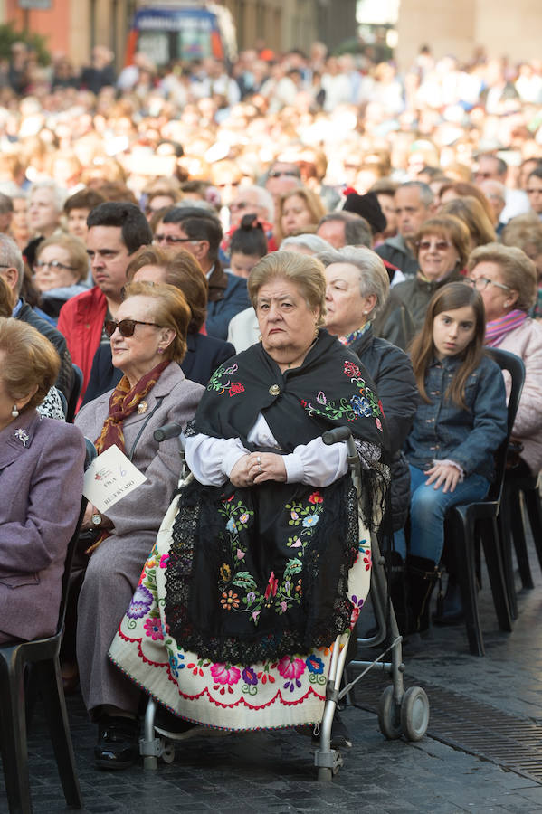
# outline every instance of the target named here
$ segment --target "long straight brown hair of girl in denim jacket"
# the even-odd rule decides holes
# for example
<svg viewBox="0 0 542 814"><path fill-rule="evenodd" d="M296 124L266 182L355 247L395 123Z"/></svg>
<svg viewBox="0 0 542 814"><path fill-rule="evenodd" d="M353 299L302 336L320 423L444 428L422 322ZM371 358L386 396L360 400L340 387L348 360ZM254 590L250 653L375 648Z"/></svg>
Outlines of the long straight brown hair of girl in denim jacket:
<svg viewBox="0 0 542 814"><path fill-rule="evenodd" d="M464 308L465 306L471 306L474 309L476 319L474 336L463 352L462 363L455 372L450 387L444 393L444 398L450 399L463 410L467 409L465 404L465 383L471 373L479 366L484 352L486 312L479 291L471 289L469 285L463 282L448 283L448 285L442 286L441 289L435 291L427 307L423 328L419 334L414 336L410 346L410 357L416 384L423 401L428 404L431 404L431 399L425 391L425 374L434 357L434 318L442 314L442 311L454 311L456 308Z"/></svg>

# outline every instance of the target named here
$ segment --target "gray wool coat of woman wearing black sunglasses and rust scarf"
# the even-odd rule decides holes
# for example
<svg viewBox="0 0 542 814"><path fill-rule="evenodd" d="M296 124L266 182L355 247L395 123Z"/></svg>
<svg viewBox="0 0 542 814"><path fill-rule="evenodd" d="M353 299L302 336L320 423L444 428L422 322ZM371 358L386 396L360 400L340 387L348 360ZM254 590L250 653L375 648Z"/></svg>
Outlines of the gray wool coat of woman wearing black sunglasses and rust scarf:
<svg viewBox="0 0 542 814"><path fill-rule="evenodd" d="M109 393L86 404L75 423L95 441L109 410ZM138 688L132 686L107 657L109 645L138 585L143 566L155 544L181 469L176 439L158 444L153 433L176 421L185 429L204 393L201 384L185 379L178 364L164 370L147 393L147 410L124 421L128 457L147 481L115 506L107 516L114 524L110 536L91 554L78 604L77 660L81 691L91 712L109 704L136 711Z"/></svg>

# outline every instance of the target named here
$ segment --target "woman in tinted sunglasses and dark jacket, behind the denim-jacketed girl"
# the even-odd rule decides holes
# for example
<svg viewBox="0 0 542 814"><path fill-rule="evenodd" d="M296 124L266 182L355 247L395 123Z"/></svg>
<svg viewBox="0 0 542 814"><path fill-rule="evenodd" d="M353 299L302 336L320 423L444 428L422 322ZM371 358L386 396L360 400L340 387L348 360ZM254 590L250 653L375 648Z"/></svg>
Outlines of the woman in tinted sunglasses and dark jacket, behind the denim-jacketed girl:
<svg viewBox="0 0 542 814"><path fill-rule="evenodd" d="M430 218L414 238L418 272L412 279L395 286L414 321L414 328L423 327L430 299L437 289L461 280L461 269L469 256L469 230L453 215Z"/></svg>

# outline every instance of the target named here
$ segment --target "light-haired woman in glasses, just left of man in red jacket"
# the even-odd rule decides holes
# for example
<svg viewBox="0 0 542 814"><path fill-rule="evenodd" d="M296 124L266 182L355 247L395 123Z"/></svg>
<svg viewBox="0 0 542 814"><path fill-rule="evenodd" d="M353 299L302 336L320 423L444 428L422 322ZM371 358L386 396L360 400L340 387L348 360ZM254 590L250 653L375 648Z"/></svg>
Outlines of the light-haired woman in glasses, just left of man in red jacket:
<svg viewBox="0 0 542 814"><path fill-rule="evenodd" d="M41 292L40 306L58 319L66 300L86 291L89 258L85 244L70 234L53 235L42 241L33 263L33 282Z"/></svg>

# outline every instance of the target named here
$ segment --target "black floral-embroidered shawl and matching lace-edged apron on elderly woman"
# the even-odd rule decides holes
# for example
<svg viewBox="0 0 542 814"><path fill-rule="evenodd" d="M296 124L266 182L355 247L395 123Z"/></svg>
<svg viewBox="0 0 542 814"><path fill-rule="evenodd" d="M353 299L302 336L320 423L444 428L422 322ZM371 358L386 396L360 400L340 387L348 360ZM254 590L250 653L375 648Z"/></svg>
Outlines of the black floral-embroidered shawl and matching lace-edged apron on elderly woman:
<svg viewBox="0 0 542 814"><path fill-rule="evenodd" d="M385 467L377 459L385 426L367 381L357 357L326 331L301 367L285 374L254 345L218 368L188 432L247 445L262 412L290 452L346 424L364 456L369 525L375 478L383 494ZM195 481L179 497L166 567L169 631L200 658L242 665L328 646L350 620L357 525L349 475L326 488Z"/></svg>

